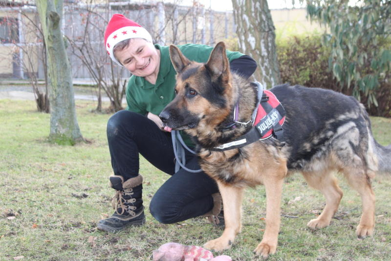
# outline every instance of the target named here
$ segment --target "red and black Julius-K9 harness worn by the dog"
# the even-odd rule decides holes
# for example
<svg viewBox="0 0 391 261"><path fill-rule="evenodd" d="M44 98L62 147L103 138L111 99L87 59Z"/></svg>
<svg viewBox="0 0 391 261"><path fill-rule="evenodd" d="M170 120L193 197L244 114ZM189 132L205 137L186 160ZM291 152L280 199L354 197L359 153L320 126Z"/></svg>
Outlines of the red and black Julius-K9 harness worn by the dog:
<svg viewBox="0 0 391 261"><path fill-rule="evenodd" d="M254 84L258 86L258 98L260 103L258 108L254 110L252 119L249 121L253 122L253 127L249 132L240 136L235 141L221 144L213 148L213 150L224 151L243 147L247 144L265 140L272 136L280 141L283 140L282 124L285 121L285 110L282 107L282 104L272 92L263 90L260 83L257 82ZM237 113L238 112L234 113L234 115ZM242 125L249 123L235 122Z"/></svg>

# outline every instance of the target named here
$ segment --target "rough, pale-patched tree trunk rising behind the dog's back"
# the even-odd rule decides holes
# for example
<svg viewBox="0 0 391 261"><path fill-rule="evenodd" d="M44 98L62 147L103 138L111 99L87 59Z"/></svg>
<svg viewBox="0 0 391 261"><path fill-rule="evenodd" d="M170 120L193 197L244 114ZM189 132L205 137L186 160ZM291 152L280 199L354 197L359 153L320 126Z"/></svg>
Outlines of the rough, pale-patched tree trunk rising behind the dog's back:
<svg viewBox="0 0 391 261"><path fill-rule="evenodd" d="M276 34L267 0L232 0L241 52L258 64L254 76L263 86L281 83Z"/></svg>

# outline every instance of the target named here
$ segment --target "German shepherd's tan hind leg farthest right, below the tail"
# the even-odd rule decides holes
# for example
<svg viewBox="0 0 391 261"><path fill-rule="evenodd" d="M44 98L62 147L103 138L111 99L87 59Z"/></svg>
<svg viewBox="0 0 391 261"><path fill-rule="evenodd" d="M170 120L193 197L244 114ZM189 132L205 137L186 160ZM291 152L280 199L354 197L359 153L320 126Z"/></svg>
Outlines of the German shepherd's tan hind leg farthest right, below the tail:
<svg viewBox="0 0 391 261"><path fill-rule="evenodd" d="M349 185L360 193L363 214L357 226L357 237L370 236L375 226L375 194L370 185L370 178L364 171L343 170Z"/></svg>

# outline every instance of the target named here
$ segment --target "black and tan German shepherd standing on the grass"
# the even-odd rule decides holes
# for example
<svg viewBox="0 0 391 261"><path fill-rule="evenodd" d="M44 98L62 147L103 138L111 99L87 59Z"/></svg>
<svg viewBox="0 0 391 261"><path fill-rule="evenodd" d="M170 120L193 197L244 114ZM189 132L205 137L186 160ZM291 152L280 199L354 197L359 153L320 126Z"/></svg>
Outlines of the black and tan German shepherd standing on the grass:
<svg viewBox="0 0 391 261"><path fill-rule="evenodd" d="M326 198L322 214L310 220L308 227L316 229L330 224L343 195L333 175L340 172L361 195L363 213L357 236L373 233L375 195L371 179L377 172L391 172L391 145L383 147L374 140L362 104L330 90L279 85L270 91L286 111L285 143L271 137L216 151L217 146L234 141L251 129L237 125L221 131L232 121L236 103L239 121L251 119L260 102L256 87L230 71L223 42L213 49L206 64L188 60L175 46L170 46L170 56L177 71L177 95L160 118L166 126L184 129L194 138L200 166L216 180L223 199L224 232L204 247L215 251L231 247L241 229L243 189L263 184L266 228L255 252L262 257L274 254L280 229L282 184L293 172L301 172L307 183Z"/></svg>

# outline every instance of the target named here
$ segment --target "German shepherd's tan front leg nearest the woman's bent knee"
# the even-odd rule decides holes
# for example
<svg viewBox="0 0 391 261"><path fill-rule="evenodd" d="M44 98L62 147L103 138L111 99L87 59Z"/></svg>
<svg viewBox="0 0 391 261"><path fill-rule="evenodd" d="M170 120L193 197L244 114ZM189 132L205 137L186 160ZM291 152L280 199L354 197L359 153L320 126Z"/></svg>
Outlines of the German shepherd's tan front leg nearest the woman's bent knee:
<svg viewBox="0 0 391 261"><path fill-rule="evenodd" d="M221 237L204 244L207 249L221 251L228 249L234 243L241 229L241 203L243 188L233 187L217 181L223 199L225 229Z"/></svg>

